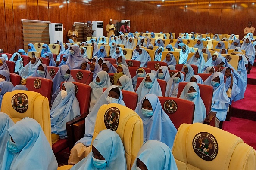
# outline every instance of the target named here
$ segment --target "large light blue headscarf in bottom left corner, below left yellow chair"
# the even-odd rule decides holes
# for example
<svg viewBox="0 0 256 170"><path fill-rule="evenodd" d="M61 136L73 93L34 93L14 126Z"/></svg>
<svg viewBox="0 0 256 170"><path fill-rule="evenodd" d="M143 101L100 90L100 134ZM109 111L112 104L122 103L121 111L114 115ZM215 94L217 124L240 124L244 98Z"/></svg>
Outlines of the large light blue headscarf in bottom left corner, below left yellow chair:
<svg viewBox="0 0 256 170"><path fill-rule="evenodd" d="M13 154L6 146L1 170L56 170L57 160L36 120L23 118L7 130L15 142L18 153ZM9 139L8 139L9 140ZM8 141L10 142L10 141Z"/></svg>

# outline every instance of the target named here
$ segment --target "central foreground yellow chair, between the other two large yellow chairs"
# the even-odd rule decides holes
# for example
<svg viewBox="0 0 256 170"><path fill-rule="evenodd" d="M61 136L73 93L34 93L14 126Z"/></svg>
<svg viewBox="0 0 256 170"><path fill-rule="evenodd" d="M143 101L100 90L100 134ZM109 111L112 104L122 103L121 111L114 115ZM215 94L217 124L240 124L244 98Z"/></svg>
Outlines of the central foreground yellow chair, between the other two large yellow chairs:
<svg viewBox="0 0 256 170"><path fill-rule="evenodd" d="M113 121L115 118L116 121ZM92 141L104 129L111 129L119 134L124 144L127 169L130 170L143 144L143 122L141 118L136 112L123 105L105 104L98 111Z"/></svg>

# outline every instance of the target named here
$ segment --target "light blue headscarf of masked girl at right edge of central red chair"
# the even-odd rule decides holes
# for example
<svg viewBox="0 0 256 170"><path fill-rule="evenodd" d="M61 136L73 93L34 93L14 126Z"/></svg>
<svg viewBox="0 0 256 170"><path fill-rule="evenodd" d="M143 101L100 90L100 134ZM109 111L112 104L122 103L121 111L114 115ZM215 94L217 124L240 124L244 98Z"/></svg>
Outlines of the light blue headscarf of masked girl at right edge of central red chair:
<svg viewBox="0 0 256 170"><path fill-rule="evenodd" d="M194 87L194 89L196 90L196 96L194 98L188 96L188 90L190 87ZM203 100L201 99L200 89L197 83L188 82L187 85L184 87L183 91L181 92L181 96L179 98L194 102L195 112L193 123L203 123L206 118L206 108L203 104Z"/></svg>

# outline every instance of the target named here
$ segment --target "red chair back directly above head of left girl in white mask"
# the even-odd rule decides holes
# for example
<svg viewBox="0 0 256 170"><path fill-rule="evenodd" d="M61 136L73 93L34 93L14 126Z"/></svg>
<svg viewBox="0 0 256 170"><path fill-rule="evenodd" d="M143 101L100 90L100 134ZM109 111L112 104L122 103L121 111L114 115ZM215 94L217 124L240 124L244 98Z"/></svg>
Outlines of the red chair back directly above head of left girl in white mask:
<svg viewBox="0 0 256 170"><path fill-rule="evenodd" d="M89 85L93 81L93 73L88 70L73 69L70 70L70 74L76 82L84 83Z"/></svg>

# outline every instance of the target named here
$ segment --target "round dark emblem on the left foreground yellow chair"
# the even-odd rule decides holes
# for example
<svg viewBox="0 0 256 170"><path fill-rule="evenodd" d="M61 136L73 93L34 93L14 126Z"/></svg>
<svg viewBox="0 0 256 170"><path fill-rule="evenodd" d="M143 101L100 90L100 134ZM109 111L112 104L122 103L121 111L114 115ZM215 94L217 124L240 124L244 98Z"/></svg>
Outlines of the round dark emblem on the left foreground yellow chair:
<svg viewBox="0 0 256 170"><path fill-rule="evenodd" d="M25 113L28 109L28 96L24 93L17 93L12 97L12 107L19 113Z"/></svg>

